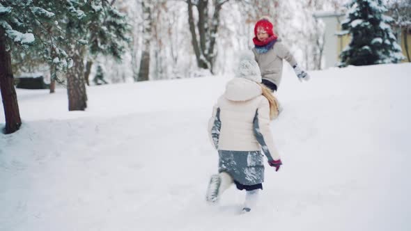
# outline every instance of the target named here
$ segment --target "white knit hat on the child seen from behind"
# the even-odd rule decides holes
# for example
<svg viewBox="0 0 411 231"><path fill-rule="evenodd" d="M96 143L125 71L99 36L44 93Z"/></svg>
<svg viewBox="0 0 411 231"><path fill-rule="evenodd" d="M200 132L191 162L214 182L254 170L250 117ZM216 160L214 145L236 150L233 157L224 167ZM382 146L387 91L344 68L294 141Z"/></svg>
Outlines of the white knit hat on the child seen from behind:
<svg viewBox="0 0 411 231"><path fill-rule="evenodd" d="M254 59L254 54L251 51L239 52L235 77L245 78L256 83L261 83L260 67L258 67L258 63Z"/></svg>

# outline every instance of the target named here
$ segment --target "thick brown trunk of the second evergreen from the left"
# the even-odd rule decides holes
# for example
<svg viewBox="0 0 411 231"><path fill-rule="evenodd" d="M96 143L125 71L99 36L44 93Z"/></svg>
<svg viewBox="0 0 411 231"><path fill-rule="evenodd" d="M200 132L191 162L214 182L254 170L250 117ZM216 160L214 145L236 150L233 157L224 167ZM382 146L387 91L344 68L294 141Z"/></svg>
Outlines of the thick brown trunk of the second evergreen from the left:
<svg viewBox="0 0 411 231"><path fill-rule="evenodd" d="M84 111L87 107L86 84L84 83L83 46L70 52L73 66L67 72L68 111Z"/></svg>

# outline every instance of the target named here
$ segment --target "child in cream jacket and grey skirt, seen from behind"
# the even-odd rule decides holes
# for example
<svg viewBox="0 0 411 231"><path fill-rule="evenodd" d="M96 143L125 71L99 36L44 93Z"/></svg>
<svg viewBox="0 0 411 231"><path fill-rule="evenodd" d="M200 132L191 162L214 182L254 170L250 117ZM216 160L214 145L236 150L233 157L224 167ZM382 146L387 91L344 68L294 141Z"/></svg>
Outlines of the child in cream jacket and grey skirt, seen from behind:
<svg viewBox="0 0 411 231"><path fill-rule="evenodd" d="M270 130L278 108L270 90L261 84L261 73L251 52L242 55L237 70L217 100L208 123L210 140L219 154L219 174L211 176L206 200L217 202L235 183L237 189L246 190L242 211L249 212L263 189L261 150L276 171L282 164Z"/></svg>

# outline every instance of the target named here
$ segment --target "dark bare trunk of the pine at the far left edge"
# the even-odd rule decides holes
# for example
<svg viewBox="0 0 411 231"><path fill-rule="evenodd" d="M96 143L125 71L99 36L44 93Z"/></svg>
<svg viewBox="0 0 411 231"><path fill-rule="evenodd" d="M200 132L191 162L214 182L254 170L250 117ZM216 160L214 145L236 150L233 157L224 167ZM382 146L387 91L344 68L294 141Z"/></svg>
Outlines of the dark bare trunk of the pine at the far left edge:
<svg viewBox="0 0 411 231"><path fill-rule="evenodd" d="M6 119L4 132L10 134L20 128L22 120L20 119L19 104L17 103L17 94L14 88L10 51L6 51L6 35L4 32L0 27L0 90Z"/></svg>

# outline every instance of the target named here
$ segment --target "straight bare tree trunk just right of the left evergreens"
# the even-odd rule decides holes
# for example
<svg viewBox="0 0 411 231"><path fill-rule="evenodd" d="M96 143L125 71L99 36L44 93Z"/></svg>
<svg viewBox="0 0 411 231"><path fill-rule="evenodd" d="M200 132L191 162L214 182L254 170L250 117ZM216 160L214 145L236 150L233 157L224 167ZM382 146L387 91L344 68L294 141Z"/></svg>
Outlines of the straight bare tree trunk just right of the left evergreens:
<svg viewBox="0 0 411 231"><path fill-rule="evenodd" d="M141 1L143 7L144 15L144 26L143 26L143 51L141 51L141 61L140 61L140 71L139 78L137 81L148 81L148 76L150 74L150 40L151 40L151 8Z"/></svg>

